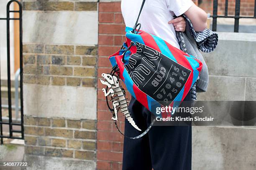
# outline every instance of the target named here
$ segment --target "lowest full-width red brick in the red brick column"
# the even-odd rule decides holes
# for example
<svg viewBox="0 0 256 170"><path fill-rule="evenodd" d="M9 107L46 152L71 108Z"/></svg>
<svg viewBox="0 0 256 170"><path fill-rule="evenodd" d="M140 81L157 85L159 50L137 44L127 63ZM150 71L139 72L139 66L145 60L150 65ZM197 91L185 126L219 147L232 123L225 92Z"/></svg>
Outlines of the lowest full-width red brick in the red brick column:
<svg viewBox="0 0 256 170"><path fill-rule="evenodd" d="M98 160L111 160L115 162L122 162L123 154L122 153L115 153L115 152L108 152L108 151L98 151L97 152L97 159Z"/></svg>

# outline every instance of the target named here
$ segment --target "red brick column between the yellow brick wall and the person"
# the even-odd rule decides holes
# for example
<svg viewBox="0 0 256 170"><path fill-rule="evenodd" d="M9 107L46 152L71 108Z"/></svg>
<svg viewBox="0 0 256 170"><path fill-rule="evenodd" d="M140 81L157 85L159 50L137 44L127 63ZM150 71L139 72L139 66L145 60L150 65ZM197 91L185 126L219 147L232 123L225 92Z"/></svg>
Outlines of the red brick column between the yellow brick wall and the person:
<svg viewBox="0 0 256 170"><path fill-rule="evenodd" d="M102 92L100 82L102 72L110 72L108 56L120 49L124 41L125 25L120 2L99 3L99 61L97 95L97 169L121 170L123 137L116 130ZM124 130L124 119L118 119L118 125Z"/></svg>

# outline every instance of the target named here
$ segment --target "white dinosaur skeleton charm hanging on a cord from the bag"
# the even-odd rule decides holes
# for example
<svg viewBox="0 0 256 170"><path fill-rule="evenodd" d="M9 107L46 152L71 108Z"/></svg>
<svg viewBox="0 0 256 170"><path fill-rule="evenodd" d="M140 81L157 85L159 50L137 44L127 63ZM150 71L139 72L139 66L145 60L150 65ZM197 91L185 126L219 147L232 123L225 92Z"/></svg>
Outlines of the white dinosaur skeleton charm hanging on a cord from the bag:
<svg viewBox="0 0 256 170"><path fill-rule="evenodd" d="M119 76L115 75L115 72L118 72L117 67L113 67L110 74L102 73L102 77L104 78L104 80L100 80L100 82L103 85L106 85L106 88L102 88L102 91L104 92L104 95L106 97L108 108L110 112L112 112L113 114L112 119L115 122L115 126L118 129L116 121L118 121L118 111L120 110L120 112L123 113L123 115L128 120L128 122L130 122L135 129L141 131L141 129L138 128L138 126L136 125L136 123L134 122L133 118L130 115L127 98L125 98L126 96L125 90L123 89L122 86L119 85ZM110 101L113 104L113 108L110 108L110 105L108 104L108 97L111 98ZM125 136L119 129L118 131L127 138L138 139L144 136L150 130L153 124L154 124L154 121L151 122L151 125L141 135L138 135L133 138Z"/></svg>

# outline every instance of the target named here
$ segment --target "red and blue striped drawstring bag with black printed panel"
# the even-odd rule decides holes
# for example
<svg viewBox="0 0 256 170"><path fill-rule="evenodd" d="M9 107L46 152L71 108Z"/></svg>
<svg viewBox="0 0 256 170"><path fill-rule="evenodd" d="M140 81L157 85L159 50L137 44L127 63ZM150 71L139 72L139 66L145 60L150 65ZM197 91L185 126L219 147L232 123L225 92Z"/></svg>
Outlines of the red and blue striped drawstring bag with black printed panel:
<svg viewBox="0 0 256 170"><path fill-rule="evenodd" d="M125 32L123 49L110 55L109 60L113 67L118 66L119 77L131 95L151 112L155 103L165 107L183 101L202 63L156 35L141 30L133 33L129 27Z"/></svg>

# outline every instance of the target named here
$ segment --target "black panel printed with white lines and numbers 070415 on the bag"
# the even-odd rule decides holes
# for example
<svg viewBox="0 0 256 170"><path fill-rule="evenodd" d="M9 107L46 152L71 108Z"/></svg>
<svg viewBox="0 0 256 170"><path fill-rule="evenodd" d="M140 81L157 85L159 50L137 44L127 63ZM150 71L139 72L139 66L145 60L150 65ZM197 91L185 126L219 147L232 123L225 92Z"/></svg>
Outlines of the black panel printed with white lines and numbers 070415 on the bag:
<svg viewBox="0 0 256 170"><path fill-rule="evenodd" d="M133 83L161 105L168 106L184 87L191 70L151 47L136 43L137 52L124 65Z"/></svg>

